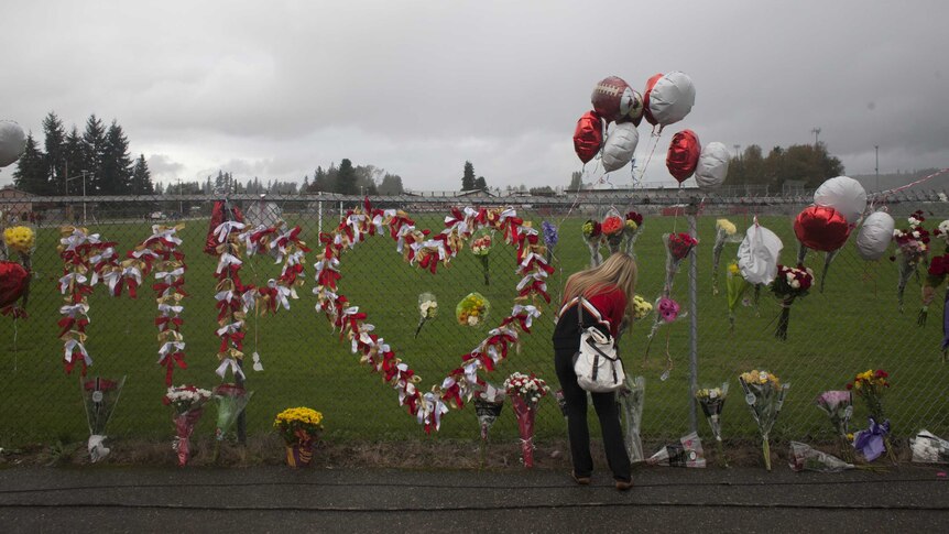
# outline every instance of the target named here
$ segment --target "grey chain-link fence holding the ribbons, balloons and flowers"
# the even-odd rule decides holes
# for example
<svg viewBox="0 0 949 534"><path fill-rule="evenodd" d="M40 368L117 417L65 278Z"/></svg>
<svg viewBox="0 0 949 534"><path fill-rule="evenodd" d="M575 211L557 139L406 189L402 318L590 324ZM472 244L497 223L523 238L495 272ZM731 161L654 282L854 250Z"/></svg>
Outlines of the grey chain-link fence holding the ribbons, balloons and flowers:
<svg viewBox="0 0 949 534"><path fill-rule="evenodd" d="M897 218L897 227L901 217L916 209L930 216L928 226L941 221L940 217L949 217L949 204L941 193L913 195L877 198L874 203L887 206ZM212 206L219 199L166 196L2 200L0 210L9 218L8 226L17 219L34 226L36 247L31 259L29 318L0 317L0 445L53 439L78 442L87 433L77 384L78 367L70 375L64 373L64 347L58 338L63 328L57 322L63 317L59 279L64 268L56 247L63 225L85 226L102 240L116 241L114 248L122 258L152 235L153 225L184 225L177 236L183 240L178 250L185 254L187 265L183 288L188 296L179 303L184 307L179 330L186 344L187 369L174 370L174 383L210 388L221 381L215 374L221 342L216 330L222 326L218 322L219 301L215 297L220 291L215 277L219 263L217 257L204 252ZM362 199L315 195L260 199L236 195L229 201L243 210L249 225L284 220L290 227L299 226L299 239L312 248L304 262L306 284L297 288L298 299L287 301L290 309L276 306L275 314L251 312L246 317L243 369L247 388L254 391L247 408L248 433L270 432L277 412L306 405L325 414L329 439L426 438L406 407L400 406L396 391L383 380L384 373L371 372L361 364L360 355L351 351L350 340L340 339L339 329L327 322L325 314L315 310L317 298L312 288L314 263L324 247L320 232L335 229L341 214L362 206ZM512 347L494 371L482 373L495 385L511 372L522 371L535 372L554 390L558 388L550 336L564 282L590 261L581 226L588 218L601 218L615 207L620 212L636 210L645 217L635 251L640 265L639 293L648 301L659 295L664 283L663 233L695 228L700 241L691 257L695 269L688 262L683 265L673 292L683 310L690 313L662 326L648 355L646 336L652 318L634 324L621 340L626 371L646 380L644 437L676 437L692 425L707 435L700 412L699 421L695 421L692 389L729 381L735 401L729 403L723 414L724 435L753 440L756 431L742 406L743 395L739 394L737 380L739 373L752 369L766 369L792 383L773 433L777 439L830 440L830 425L815 406L815 397L826 390L843 389L857 372L869 368L883 368L892 374L893 385L884 405L897 436L907 436L919 428L937 434L949 431L949 400L943 394L949 379L939 350L941 299L930 306L928 323L917 326L923 279L910 280L905 312L901 313L896 264L886 258L877 262L861 260L853 248L855 236L851 236L829 265L823 291L818 286L823 277L825 257L812 251L807 255L806 264L814 269L818 283L807 297L792 306L786 341L774 336L779 305L766 287L756 298L753 290L748 292L749 305L738 307L734 327L730 326L724 271L738 246L726 246L718 282L720 291L715 294L711 249L716 219L728 218L743 232L757 217L760 224L782 238L783 262L793 264L797 241L792 222L808 204L807 197L701 198L688 192L667 190L502 198L404 196L378 197L371 201L381 209L404 210L416 227L430 228L435 233L444 228L452 207L466 206L512 207L533 228L539 229L547 221L558 229L559 239L552 250L555 271L547 280L552 303L542 303L543 315L534 320L532 334L522 335L519 347ZM478 292L490 302L490 326L510 315L519 303L516 248L504 244L501 235L495 236L494 242L488 254L487 276L486 264L470 248L451 259L449 266L439 266L435 274L412 266L388 232L379 232L340 257L339 294L345 294L349 303L368 315L367 320L375 326L373 334L383 337L396 357L421 377L416 384L419 391L443 385L443 379L463 363L462 356L487 334L487 328L461 326L456 320L456 304L466 295ZM264 287L277 277L281 269L266 255L243 258L241 277L244 283ZM85 347L92 359L88 377L127 377L109 424L111 436L152 439L165 438L170 432L168 408L161 403L166 369L156 364L160 344L153 282L143 281L134 299L127 291L118 297L109 296L101 286L88 297L91 322L86 328ZM418 297L423 293L435 295L439 312L416 335L421 319ZM253 353L259 358L252 360ZM473 412L471 407L451 410L435 435L473 438L478 432ZM864 415L857 403L855 426L863 425ZM197 433L212 432L214 423L209 419L205 417ZM564 419L553 400L542 403L536 429L539 438L565 435ZM492 432L516 435L514 417L505 415Z"/></svg>

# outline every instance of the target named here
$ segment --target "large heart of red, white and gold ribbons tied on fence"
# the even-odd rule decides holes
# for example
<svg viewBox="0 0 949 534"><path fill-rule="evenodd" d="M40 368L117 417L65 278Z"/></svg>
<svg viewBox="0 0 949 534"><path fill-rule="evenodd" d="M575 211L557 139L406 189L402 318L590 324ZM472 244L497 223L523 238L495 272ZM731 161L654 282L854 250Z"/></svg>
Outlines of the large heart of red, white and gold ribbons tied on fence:
<svg viewBox="0 0 949 534"><path fill-rule="evenodd" d="M343 252L368 237L388 236L410 265L436 274L438 264L448 265L451 258L463 250L466 240L481 228L502 232L504 241L516 252L521 280L515 304L473 350L461 355L460 367L449 371L440 385L423 392L417 385L421 378L377 334L375 326L368 322L368 314L339 291L340 261ZM490 372L506 358L509 349L519 342L519 331L531 333L533 320L541 316L534 305L536 299L550 302L546 280L554 269L544 259L537 230L519 218L513 208L452 208L445 217L445 229L433 236L430 230L417 229L404 211L373 208L366 199L361 208L348 210L334 231L320 233L319 240L323 252L314 264L316 310L326 315L334 329L340 329L341 338L350 340L352 352L361 355L361 363L382 374L399 393L399 403L407 407L427 433L440 427L449 406L460 410L465 405L462 397L470 400L475 390L484 385L478 371Z"/></svg>

